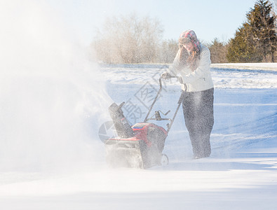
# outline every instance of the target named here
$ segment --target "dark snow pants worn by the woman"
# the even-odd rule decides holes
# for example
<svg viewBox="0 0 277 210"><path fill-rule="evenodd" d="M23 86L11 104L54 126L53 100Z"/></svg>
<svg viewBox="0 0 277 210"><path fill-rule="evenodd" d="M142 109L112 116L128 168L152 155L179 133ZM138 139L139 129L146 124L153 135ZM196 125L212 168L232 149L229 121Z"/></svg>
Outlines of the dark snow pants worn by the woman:
<svg viewBox="0 0 277 210"><path fill-rule="evenodd" d="M199 92L183 92L184 121L189 131L195 158L210 156L210 132L214 124L214 88Z"/></svg>

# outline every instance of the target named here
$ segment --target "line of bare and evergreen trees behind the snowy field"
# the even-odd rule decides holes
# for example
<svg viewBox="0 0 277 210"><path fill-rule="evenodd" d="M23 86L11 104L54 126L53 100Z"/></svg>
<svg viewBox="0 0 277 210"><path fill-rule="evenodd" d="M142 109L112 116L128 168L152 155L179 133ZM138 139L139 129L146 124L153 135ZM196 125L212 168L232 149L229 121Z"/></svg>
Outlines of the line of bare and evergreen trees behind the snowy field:
<svg viewBox="0 0 277 210"><path fill-rule="evenodd" d="M258 0L246 14L246 21L227 43L214 38L204 43L212 63L275 62L277 58L277 0ZM274 7L275 6L275 7ZM136 14L110 18L98 29L92 48L104 63L171 63L177 40L163 40L159 20Z"/></svg>

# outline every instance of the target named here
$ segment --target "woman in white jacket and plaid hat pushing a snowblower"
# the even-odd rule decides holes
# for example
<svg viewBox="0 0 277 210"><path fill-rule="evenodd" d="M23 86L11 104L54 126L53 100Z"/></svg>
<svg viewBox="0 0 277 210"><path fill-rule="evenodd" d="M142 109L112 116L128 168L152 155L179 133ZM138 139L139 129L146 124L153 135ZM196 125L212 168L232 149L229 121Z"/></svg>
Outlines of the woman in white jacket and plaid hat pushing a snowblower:
<svg viewBox="0 0 277 210"><path fill-rule="evenodd" d="M214 123L210 50L198 41L194 31L187 30L180 35L174 62L161 76L168 79L170 74L181 76L184 120L194 158L209 157L210 132Z"/></svg>

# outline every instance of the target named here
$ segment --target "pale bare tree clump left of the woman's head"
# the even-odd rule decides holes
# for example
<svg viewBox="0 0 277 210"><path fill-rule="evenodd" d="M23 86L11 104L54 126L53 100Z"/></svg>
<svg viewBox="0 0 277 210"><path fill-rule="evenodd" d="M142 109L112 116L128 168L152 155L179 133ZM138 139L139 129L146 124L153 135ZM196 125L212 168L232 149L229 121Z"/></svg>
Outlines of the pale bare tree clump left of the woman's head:
<svg viewBox="0 0 277 210"><path fill-rule="evenodd" d="M109 18L97 32L93 48L108 63L156 62L163 29L158 20L136 14Z"/></svg>

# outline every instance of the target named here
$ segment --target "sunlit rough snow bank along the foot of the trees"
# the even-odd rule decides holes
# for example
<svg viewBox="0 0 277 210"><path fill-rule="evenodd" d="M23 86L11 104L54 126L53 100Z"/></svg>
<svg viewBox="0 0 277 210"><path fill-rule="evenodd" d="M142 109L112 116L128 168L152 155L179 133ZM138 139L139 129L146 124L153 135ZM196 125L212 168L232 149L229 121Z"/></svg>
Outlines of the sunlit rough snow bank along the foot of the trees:
<svg viewBox="0 0 277 210"><path fill-rule="evenodd" d="M252 67L243 69L247 65ZM213 64L212 80L215 88L277 88L276 65L275 63ZM270 69L266 66L270 66ZM166 69L168 69L167 64L147 67L144 64L102 66L103 75L110 83L126 85L143 85L146 82L155 84ZM172 79L168 85L179 84Z"/></svg>

